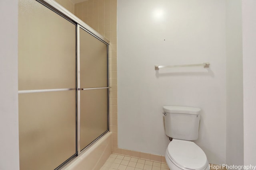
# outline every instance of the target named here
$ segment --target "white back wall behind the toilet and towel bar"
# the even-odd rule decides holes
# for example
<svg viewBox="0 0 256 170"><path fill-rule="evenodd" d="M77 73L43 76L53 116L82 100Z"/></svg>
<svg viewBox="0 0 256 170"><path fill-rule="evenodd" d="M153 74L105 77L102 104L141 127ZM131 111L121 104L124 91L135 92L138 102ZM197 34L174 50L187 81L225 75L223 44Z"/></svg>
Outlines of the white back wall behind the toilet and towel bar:
<svg viewBox="0 0 256 170"><path fill-rule="evenodd" d="M118 147L164 155L162 106L194 106L195 143L210 163L226 162L225 24L223 0L118 0ZM203 62L210 68L154 70Z"/></svg>

